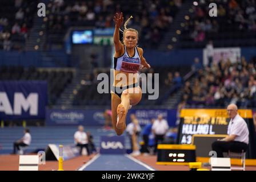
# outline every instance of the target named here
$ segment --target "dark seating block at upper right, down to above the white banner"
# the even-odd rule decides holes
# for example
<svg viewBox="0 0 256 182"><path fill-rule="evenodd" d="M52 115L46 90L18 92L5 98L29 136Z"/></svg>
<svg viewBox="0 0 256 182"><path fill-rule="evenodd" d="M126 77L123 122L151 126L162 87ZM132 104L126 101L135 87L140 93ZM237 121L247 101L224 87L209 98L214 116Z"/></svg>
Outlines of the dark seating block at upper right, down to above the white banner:
<svg viewBox="0 0 256 182"><path fill-rule="evenodd" d="M218 3L217 17L210 17L209 4ZM209 40L215 47L255 46L256 10L254 1L199 1L191 4L189 19L179 36L179 48L204 48ZM204 34L198 40L199 33Z"/></svg>

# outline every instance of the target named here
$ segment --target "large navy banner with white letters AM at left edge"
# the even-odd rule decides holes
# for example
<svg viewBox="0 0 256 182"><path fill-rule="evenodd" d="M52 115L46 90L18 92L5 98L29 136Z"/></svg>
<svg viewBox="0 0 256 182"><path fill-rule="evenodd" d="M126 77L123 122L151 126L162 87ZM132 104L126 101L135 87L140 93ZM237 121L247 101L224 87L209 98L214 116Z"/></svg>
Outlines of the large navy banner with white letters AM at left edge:
<svg viewBox="0 0 256 182"><path fill-rule="evenodd" d="M1 119L43 119L46 81L0 81Z"/></svg>

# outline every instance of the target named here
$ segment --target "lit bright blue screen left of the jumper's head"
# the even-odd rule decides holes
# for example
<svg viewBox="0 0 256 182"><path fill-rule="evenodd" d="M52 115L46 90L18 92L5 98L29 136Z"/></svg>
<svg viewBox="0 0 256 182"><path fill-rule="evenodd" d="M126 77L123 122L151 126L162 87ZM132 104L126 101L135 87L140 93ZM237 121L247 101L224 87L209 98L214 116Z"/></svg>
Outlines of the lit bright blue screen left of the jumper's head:
<svg viewBox="0 0 256 182"><path fill-rule="evenodd" d="M92 44L93 43L93 31L74 31L72 34L73 44Z"/></svg>

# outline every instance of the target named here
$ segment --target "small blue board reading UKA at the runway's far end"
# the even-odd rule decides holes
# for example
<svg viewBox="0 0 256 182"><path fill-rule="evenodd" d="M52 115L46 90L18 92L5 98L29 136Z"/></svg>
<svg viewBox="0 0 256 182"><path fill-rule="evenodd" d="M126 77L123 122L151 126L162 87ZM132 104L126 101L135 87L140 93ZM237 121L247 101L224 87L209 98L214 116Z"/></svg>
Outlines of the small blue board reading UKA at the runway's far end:
<svg viewBox="0 0 256 182"><path fill-rule="evenodd" d="M125 137L101 137L101 154L125 154Z"/></svg>

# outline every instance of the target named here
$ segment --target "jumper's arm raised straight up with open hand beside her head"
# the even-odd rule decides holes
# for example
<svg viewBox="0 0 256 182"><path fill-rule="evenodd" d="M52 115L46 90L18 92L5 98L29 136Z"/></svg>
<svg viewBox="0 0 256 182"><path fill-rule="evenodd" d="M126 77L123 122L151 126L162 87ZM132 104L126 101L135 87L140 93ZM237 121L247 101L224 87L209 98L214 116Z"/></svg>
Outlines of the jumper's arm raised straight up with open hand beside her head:
<svg viewBox="0 0 256 182"><path fill-rule="evenodd" d="M115 52L121 51L122 49L122 43L119 39L119 28L123 24L123 13L116 13L114 16L114 22L115 22L115 31L114 31L114 44L115 44Z"/></svg>

